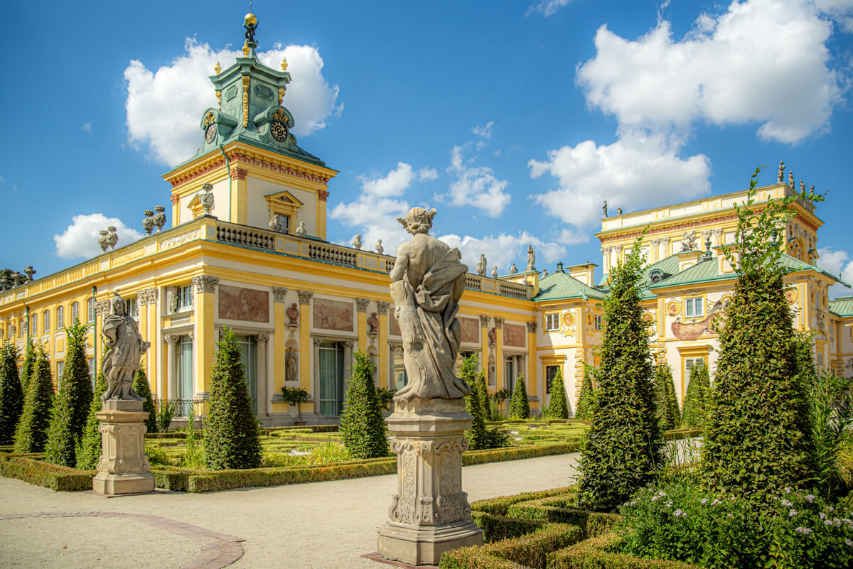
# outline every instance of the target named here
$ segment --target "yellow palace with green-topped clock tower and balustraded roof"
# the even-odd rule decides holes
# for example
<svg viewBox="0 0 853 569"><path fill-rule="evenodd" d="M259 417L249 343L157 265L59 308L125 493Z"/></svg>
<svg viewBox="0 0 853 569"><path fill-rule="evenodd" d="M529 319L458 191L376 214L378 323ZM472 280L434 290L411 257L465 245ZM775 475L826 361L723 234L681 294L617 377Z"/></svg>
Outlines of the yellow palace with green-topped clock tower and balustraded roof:
<svg viewBox="0 0 853 569"><path fill-rule="evenodd" d="M94 371L103 353L97 334L118 293L151 342L142 365L152 392L194 402L201 414L225 327L240 342L252 406L265 426L293 424L297 417L281 398L282 387L308 391L310 401L300 410L305 421L337 422L354 350L374 357L377 386L403 387L402 338L388 290L394 258L328 242L327 200L337 171L298 146L291 129L299 117L282 105L287 62L281 71L270 69L255 47L252 36L243 57L227 69L217 66L211 81L219 105L200 112L201 146L163 176L171 183L171 227L151 233L164 220L154 223L147 212L149 234L135 243L4 286L0 339L20 351L27 340L40 342L56 378L65 358L64 327L80 319L92 325ZM784 182L761 187L751 207L785 195L794 190ZM558 263L549 274L532 263L497 278L467 274L460 358L480 352L492 391L512 389L522 377L534 413L547 404L561 370L573 410L583 365L598 363L607 273L642 235L649 342L656 361L672 367L683 397L693 366L715 369L711 321L735 279L721 246L734 242L733 206L745 198L741 191L605 216L596 233L603 253L597 283L593 263ZM794 323L815 333L818 365L850 375L853 296L830 302L828 288L838 277L815 265L822 221L810 205L796 208L779 241L792 271L786 282Z"/></svg>

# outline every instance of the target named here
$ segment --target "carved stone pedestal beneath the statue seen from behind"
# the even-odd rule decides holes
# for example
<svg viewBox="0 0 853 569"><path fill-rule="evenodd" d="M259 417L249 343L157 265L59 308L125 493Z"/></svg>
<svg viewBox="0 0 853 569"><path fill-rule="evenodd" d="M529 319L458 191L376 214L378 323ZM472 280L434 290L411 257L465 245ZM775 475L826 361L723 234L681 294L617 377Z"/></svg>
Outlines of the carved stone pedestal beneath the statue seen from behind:
<svg viewBox="0 0 853 569"><path fill-rule="evenodd" d="M462 491L462 451L472 417L464 399L414 399L394 404L397 493L379 530L379 554L409 565L438 565L445 551L483 544Z"/></svg>

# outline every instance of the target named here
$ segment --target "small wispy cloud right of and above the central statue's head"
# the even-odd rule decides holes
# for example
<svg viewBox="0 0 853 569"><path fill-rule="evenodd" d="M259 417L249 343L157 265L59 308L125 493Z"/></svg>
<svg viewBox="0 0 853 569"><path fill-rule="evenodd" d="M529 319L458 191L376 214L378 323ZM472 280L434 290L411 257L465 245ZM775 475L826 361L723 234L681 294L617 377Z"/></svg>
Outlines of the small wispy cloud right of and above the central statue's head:
<svg viewBox="0 0 853 569"><path fill-rule="evenodd" d="M487 166L472 166L462 158L463 147L455 146L450 151L450 166L447 171L456 177L450 183L447 198L453 205L472 205L483 210L487 216L497 217L509 204L511 196L505 191L506 180L498 180Z"/></svg>

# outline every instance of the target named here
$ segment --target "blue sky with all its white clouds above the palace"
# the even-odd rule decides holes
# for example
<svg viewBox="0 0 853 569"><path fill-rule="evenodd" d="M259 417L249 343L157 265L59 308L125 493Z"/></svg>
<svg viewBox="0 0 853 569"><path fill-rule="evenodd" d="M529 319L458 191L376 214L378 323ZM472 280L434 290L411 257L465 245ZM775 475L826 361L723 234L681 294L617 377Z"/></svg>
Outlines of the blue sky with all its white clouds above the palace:
<svg viewBox="0 0 853 569"><path fill-rule="evenodd" d="M43 277L95 255L98 229L127 244L143 210L169 205L160 175L200 144L205 75L241 46L243 4L7 7L0 265ZM472 267L485 252L506 273L529 243L549 272L600 263L604 199L629 212L727 193L759 164L775 181L784 159L829 190L818 264L853 281L853 0L253 11L262 58L291 64L300 146L340 170L331 241L393 250L394 218L424 205Z"/></svg>

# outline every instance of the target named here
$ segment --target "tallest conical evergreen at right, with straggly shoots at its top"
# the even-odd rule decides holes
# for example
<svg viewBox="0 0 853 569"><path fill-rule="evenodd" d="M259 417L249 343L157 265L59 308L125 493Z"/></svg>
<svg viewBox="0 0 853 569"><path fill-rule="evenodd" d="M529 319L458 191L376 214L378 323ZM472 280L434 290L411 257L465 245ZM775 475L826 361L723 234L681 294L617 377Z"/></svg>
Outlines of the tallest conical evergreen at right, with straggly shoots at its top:
<svg viewBox="0 0 853 569"><path fill-rule="evenodd" d="M809 424L797 373L791 310L785 299L778 235L795 216L795 198L755 204L758 171L747 203L735 206L734 296L723 311L714 400L702 452L702 474L715 491L750 500L796 486L809 475ZM802 193L804 202L822 196Z"/></svg>

